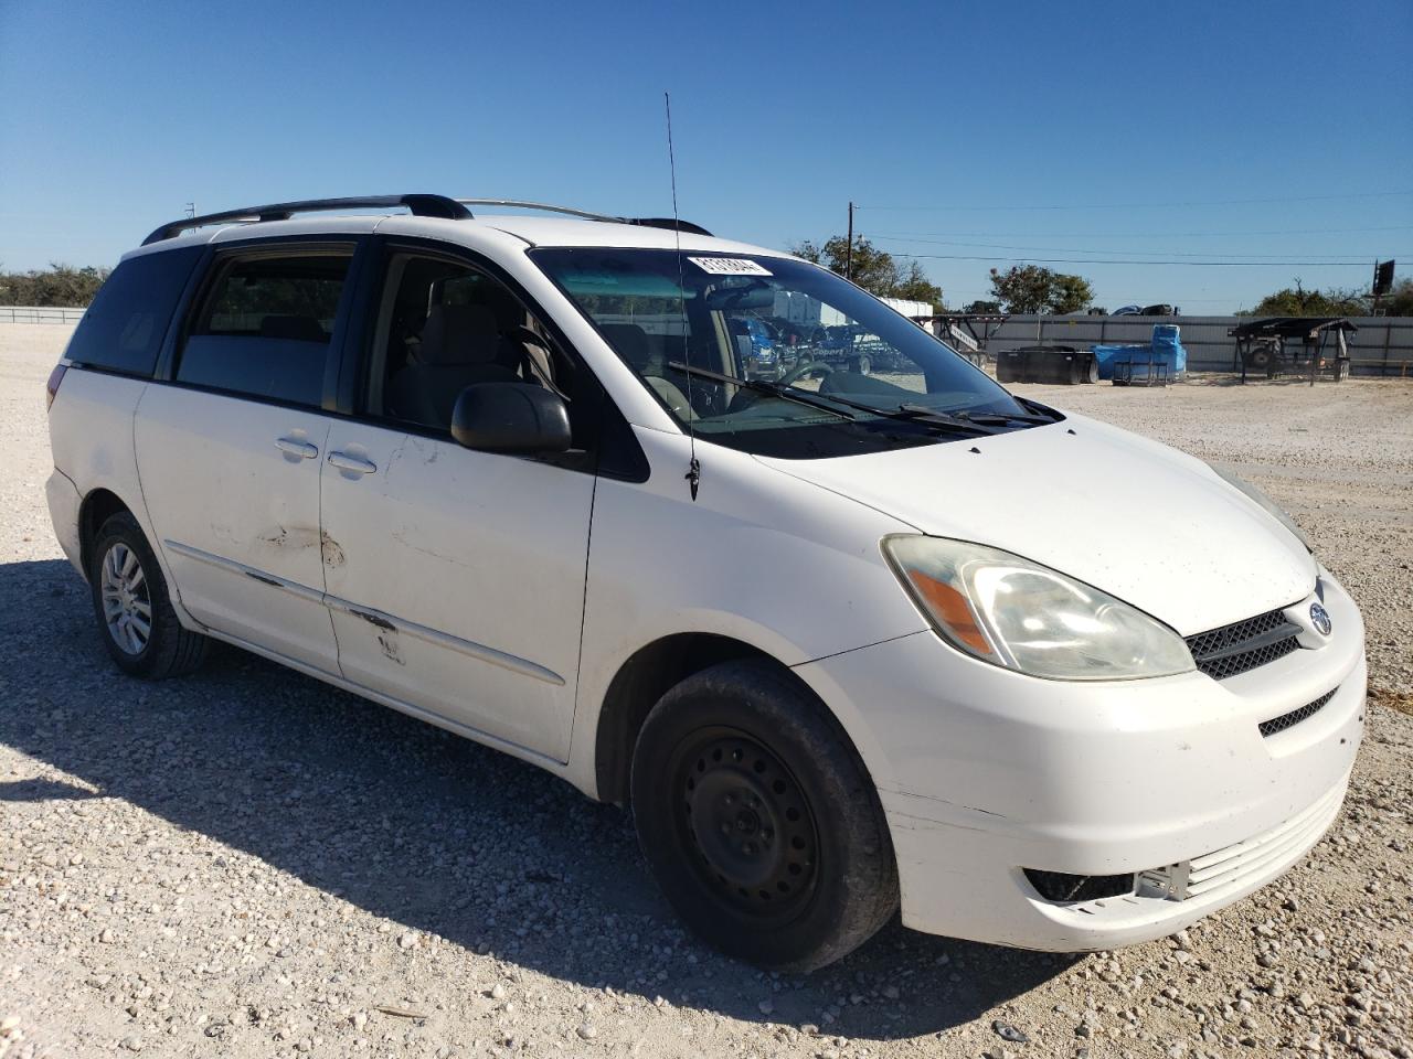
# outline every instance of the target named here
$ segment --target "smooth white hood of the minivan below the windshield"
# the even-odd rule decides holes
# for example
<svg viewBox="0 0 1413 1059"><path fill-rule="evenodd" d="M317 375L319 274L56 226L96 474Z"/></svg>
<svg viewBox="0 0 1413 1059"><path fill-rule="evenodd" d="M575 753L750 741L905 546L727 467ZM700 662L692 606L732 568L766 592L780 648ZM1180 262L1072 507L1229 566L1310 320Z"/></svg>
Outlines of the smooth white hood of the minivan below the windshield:
<svg viewBox="0 0 1413 1059"><path fill-rule="evenodd" d="M1205 463L1082 417L865 456L762 462L924 534L1044 563L1184 637L1314 590L1304 546Z"/></svg>

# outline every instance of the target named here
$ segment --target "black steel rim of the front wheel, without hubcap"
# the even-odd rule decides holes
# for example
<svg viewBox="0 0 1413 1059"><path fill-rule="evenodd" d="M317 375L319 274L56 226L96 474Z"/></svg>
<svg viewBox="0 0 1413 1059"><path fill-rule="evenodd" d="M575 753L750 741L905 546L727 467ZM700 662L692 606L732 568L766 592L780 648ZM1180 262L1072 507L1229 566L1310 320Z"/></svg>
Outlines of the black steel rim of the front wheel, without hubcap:
<svg viewBox="0 0 1413 1059"><path fill-rule="evenodd" d="M743 733L704 733L677 771L685 839L702 880L750 915L804 901L815 874L814 815L780 760Z"/></svg>

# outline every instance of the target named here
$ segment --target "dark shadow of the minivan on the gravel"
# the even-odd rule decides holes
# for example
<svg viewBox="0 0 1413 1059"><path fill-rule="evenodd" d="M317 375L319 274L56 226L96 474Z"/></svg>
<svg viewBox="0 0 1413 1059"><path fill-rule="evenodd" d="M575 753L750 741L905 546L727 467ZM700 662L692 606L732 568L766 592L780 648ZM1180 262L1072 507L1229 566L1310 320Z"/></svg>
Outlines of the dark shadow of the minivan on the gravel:
<svg viewBox="0 0 1413 1059"><path fill-rule="evenodd" d="M235 650L131 681L62 561L0 565L0 741L100 792L23 781L0 801L126 799L403 925L389 945L422 931L565 981L873 1039L945 1031L1077 959L894 923L771 979L681 929L625 812L540 770Z"/></svg>

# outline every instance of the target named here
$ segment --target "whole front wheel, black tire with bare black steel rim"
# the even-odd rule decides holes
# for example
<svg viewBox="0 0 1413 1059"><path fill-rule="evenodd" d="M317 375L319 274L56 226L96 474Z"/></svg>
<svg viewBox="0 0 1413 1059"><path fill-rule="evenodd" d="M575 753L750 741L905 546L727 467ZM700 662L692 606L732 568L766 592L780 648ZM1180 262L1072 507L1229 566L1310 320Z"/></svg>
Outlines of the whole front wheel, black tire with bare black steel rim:
<svg viewBox="0 0 1413 1059"><path fill-rule="evenodd" d="M877 791L788 672L722 662L668 690L633 754L639 842L677 914L729 956L811 971L897 909Z"/></svg>

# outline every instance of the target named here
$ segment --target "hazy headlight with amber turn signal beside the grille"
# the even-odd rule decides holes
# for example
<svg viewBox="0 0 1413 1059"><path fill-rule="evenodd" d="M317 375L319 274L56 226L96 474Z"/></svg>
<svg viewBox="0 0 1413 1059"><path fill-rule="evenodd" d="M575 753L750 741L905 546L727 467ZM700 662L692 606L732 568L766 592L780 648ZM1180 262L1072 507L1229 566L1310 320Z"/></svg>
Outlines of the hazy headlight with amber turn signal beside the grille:
<svg viewBox="0 0 1413 1059"><path fill-rule="evenodd" d="M1170 676L1187 644L1128 603L1019 555L940 537L887 537L887 556L933 627L969 655L1054 681Z"/></svg>

